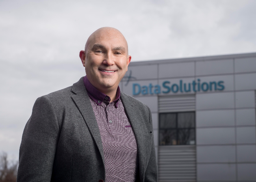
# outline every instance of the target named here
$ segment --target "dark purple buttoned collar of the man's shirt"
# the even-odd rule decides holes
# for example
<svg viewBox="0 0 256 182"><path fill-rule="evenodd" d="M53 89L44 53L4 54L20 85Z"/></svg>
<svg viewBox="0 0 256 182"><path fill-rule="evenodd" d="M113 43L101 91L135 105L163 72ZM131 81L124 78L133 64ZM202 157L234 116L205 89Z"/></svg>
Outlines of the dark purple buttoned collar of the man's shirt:
<svg viewBox="0 0 256 182"><path fill-rule="evenodd" d="M87 93L91 99L93 99L98 105L101 105L104 100L110 102L110 97L104 93L101 93L98 91L93 84L88 80L87 76L83 77L83 84L87 90ZM113 101L115 104L115 107L118 106L118 101L120 98L120 88L117 87L117 95L115 97L115 100Z"/></svg>

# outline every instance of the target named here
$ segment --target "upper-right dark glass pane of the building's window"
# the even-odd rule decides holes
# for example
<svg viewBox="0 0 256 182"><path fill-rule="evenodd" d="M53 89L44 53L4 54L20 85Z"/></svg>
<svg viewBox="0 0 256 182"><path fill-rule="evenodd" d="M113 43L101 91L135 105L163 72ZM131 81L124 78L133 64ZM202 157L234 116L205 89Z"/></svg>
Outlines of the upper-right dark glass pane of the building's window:
<svg viewBox="0 0 256 182"><path fill-rule="evenodd" d="M195 112L178 113L178 128L195 127Z"/></svg>

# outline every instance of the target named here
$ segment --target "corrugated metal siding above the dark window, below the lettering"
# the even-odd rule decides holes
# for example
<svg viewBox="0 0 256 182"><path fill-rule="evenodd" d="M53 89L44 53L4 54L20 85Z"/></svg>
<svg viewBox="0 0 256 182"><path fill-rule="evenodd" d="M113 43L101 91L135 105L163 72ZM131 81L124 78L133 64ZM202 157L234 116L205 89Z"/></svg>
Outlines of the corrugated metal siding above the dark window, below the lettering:
<svg viewBox="0 0 256 182"><path fill-rule="evenodd" d="M158 96L160 113L195 110L195 94Z"/></svg>

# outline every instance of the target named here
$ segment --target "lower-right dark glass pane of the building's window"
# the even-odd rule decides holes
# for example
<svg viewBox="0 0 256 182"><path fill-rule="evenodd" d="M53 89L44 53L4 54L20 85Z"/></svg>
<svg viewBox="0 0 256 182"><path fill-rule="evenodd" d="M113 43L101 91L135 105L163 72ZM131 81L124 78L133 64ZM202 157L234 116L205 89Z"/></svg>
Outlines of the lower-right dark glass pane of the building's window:
<svg viewBox="0 0 256 182"><path fill-rule="evenodd" d="M195 129L179 129L178 145L195 145Z"/></svg>

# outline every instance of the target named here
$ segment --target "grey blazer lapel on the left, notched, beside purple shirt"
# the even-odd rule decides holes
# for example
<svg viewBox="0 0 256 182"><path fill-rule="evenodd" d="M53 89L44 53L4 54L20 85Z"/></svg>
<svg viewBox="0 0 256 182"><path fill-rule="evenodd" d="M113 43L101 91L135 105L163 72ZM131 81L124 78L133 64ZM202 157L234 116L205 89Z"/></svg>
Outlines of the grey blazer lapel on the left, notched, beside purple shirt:
<svg viewBox="0 0 256 182"><path fill-rule="evenodd" d="M100 151L100 155L104 163L104 153L102 147L102 140L100 136L100 130L98 128L95 114L93 112L93 107L91 106L91 102L85 89L85 86L83 84L82 78L80 78L80 80L73 85L72 92L76 95L72 95L71 98L78 107L80 113L82 114L83 119L85 120L85 123L87 124L87 127L91 132L91 135L93 136L93 139L95 140L95 143Z"/></svg>

